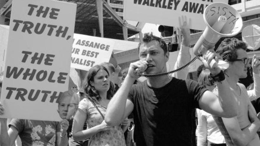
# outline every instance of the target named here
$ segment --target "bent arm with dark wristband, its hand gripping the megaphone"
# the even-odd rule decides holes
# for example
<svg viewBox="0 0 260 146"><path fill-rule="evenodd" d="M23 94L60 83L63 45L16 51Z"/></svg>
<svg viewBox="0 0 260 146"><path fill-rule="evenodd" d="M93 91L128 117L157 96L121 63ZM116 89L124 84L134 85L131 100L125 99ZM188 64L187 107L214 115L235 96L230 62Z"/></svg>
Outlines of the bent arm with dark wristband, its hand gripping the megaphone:
<svg viewBox="0 0 260 146"><path fill-rule="evenodd" d="M238 103L233 96L230 86L225 79L225 75L220 68L210 68L209 63L215 58L216 61L220 57L215 57L215 54L208 51L206 54L206 60L202 59L205 67L209 68L212 78L217 81L218 97L210 91L204 92L199 100L199 106L204 111L217 115L219 117L231 118L237 116Z"/></svg>

